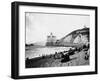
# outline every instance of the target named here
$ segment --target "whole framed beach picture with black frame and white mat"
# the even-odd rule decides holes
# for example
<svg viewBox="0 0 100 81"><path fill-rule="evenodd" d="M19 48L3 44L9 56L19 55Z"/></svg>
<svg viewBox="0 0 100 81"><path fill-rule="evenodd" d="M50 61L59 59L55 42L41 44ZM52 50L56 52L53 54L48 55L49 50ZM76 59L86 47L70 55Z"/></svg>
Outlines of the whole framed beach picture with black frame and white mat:
<svg viewBox="0 0 100 81"><path fill-rule="evenodd" d="M12 78L97 74L97 7L12 3Z"/></svg>

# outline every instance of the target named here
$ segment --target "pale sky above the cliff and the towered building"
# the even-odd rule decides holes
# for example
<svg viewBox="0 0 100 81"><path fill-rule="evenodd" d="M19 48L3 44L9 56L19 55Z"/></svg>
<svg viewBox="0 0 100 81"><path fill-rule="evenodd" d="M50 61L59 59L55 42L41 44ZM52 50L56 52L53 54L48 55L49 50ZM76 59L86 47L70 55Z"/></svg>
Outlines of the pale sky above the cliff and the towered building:
<svg viewBox="0 0 100 81"><path fill-rule="evenodd" d="M60 39L76 29L90 27L89 15L27 12L25 17L26 43L46 41L51 32Z"/></svg>

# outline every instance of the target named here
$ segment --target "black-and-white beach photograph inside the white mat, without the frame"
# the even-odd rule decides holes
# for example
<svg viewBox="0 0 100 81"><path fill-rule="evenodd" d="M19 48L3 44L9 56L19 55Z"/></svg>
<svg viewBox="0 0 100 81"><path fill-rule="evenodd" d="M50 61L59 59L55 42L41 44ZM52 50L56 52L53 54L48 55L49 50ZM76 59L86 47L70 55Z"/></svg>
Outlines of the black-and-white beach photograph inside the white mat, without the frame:
<svg viewBox="0 0 100 81"><path fill-rule="evenodd" d="M90 15L26 12L25 67L90 64Z"/></svg>

